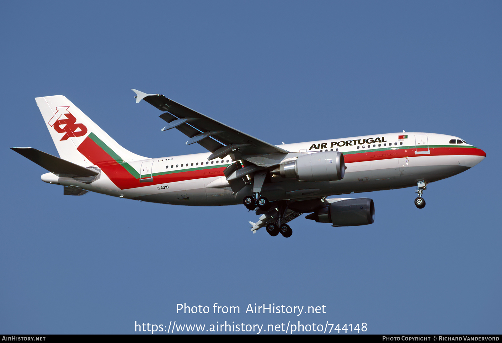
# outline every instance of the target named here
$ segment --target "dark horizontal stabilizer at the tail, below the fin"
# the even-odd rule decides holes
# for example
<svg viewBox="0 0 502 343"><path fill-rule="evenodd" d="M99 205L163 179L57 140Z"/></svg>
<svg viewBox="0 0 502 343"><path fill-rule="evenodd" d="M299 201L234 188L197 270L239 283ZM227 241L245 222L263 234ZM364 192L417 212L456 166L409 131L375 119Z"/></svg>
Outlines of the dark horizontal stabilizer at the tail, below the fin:
<svg viewBox="0 0 502 343"><path fill-rule="evenodd" d="M11 149L54 174L65 174L69 178L85 178L99 175L99 172L94 169L84 168L66 159L53 156L47 152L31 147L13 147Z"/></svg>

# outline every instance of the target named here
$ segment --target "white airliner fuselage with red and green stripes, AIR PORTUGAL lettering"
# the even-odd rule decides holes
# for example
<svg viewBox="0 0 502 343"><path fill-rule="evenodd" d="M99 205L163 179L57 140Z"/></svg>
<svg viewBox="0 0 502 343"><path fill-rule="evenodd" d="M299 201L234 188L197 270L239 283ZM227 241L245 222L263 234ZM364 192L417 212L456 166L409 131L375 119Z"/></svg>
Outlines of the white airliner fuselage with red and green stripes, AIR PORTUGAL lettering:
<svg viewBox="0 0 502 343"><path fill-rule="evenodd" d="M345 177L339 181L305 182L274 175L262 189L262 194L271 201L413 187L418 181L433 182L454 176L485 157L484 151L458 137L423 132L279 146L297 152L296 156L298 152L340 151L345 159ZM109 162L96 163L102 173L90 184L51 173L44 174L42 180L128 199L191 206L240 204L244 196L253 193L251 185L232 193L223 175L223 169L232 163L231 158L208 161L209 155L207 152L121 161L113 166ZM283 161L294 158L286 156Z"/></svg>

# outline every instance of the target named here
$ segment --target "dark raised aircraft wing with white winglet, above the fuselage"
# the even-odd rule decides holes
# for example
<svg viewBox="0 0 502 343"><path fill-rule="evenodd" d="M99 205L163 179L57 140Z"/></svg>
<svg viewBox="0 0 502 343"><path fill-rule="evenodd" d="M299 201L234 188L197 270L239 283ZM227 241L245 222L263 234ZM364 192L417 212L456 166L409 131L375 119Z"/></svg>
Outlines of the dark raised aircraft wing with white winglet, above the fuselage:
<svg viewBox="0 0 502 343"><path fill-rule="evenodd" d="M187 145L199 143L212 152L209 160L217 157L223 158L234 150L239 150L242 155L287 154L289 152L196 112L164 95L147 94L136 89L133 91L137 94L136 102L144 99L161 111L165 111L160 115L168 123L162 129L163 131L176 128L183 132L190 138L186 142Z"/></svg>

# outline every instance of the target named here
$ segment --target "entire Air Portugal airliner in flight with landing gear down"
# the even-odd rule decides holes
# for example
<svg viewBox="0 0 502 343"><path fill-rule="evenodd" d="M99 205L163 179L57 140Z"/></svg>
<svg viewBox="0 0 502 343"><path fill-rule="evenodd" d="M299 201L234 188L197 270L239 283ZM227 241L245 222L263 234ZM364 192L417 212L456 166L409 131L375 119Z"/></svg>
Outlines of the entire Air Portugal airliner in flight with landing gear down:
<svg viewBox="0 0 502 343"><path fill-rule="evenodd" d="M189 206L243 204L259 217L252 225L290 237L287 224L305 218L334 227L374 222L368 198L328 198L416 187L417 208L431 182L473 167L486 153L464 139L397 132L273 145L185 107L161 94L133 89L163 113L162 131L176 128L209 152L149 158L113 140L62 95L35 98L59 157L13 147L49 171L42 181L64 195L91 191L119 198Z"/></svg>

